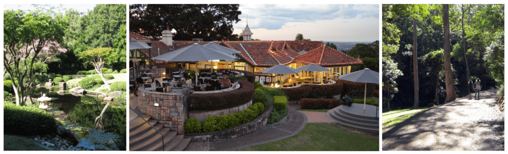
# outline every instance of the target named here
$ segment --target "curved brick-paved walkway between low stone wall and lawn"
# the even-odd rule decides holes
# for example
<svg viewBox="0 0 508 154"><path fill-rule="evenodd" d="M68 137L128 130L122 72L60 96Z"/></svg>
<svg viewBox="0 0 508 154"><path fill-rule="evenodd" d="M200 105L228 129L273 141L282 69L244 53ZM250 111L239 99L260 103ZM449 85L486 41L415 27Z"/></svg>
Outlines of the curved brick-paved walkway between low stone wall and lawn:
<svg viewBox="0 0 508 154"><path fill-rule="evenodd" d="M294 136L305 127L307 116L300 111L294 110L299 108L299 105L289 104L288 106L290 107L290 119L284 124L265 126L254 133L234 139L213 142L190 142L185 151L230 151Z"/></svg>

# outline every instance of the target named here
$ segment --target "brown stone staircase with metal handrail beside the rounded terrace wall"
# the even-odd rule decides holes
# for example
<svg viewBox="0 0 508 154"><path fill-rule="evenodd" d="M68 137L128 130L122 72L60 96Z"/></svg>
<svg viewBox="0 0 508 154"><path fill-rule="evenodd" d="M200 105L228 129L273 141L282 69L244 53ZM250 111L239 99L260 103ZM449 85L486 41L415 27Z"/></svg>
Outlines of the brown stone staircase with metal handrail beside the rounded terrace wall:
<svg viewBox="0 0 508 154"><path fill-rule="evenodd" d="M157 130L164 135L164 150L166 151L182 151L187 147L190 138L184 135L178 135L175 131L163 127L163 124L157 124L156 120L151 120L149 115L143 118L152 124ZM142 118L137 118L129 124L129 150L130 151L162 151L163 143L161 134L155 131Z"/></svg>

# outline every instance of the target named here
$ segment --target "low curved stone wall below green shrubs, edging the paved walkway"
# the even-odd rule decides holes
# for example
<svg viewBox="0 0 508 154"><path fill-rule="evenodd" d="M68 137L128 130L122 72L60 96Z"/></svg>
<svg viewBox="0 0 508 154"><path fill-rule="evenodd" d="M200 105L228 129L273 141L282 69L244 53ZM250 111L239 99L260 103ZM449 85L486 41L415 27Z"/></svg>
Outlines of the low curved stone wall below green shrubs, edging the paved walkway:
<svg viewBox="0 0 508 154"><path fill-rule="evenodd" d="M191 142L219 141L245 136L265 127L272 109L273 107L270 106L258 118L234 128L206 133L189 133L185 136L190 137Z"/></svg>

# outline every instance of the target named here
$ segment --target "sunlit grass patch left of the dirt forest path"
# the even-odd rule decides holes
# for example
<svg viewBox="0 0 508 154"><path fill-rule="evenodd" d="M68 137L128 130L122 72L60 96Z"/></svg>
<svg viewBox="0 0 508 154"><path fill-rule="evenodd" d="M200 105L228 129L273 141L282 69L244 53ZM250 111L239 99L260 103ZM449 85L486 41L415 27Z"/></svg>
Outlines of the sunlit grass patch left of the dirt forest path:
<svg viewBox="0 0 508 154"><path fill-rule="evenodd" d="M431 108L431 107L420 108L420 109L399 109L399 110L384 112L382 114L383 129L393 127L393 126L397 125L398 123L403 122L406 119L409 119L418 113L426 111L429 108Z"/></svg>

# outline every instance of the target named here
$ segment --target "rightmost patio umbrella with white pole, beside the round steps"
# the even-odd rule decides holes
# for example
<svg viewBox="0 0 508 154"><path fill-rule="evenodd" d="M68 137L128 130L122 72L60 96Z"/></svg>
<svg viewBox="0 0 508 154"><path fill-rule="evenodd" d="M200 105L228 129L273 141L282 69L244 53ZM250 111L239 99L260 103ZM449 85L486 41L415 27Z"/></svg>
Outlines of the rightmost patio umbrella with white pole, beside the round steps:
<svg viewBox="0 0 508 154"><path fill-rule="evenodd" d="M352 73L339 76L340 80L347 80L356 83L365 83L365 94L363 98L363 110L365 110L365 102L367 100L367 83L379 84L379 73L369 68L365 68Z"/></svg>

